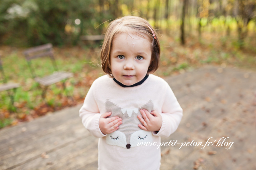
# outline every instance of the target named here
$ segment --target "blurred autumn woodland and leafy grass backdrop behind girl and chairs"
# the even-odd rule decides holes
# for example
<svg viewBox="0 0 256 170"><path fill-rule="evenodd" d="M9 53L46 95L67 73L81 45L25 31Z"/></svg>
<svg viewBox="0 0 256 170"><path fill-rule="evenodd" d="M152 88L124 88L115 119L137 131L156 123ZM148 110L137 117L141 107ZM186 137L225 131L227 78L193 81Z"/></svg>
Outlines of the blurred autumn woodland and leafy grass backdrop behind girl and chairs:
<svg viewBox="0 0 256 170"><path fill-rule="evenodd" d="M64 107L82 103L100 67L102 35L113 19L135 15L157 30L162 78L203 65L256 70L256 0L1 0L0 53L8 82L19 83L14 107L8 91L0 92L0 128L30 121ZM51 43L59 70L72 72L51 85L42 100L23 51ZM39 76L54 71L48 58L32 63ZM3 84L0 79L0 83ZM0 85L1 85L0 84ZM10 92L10 91L9 91Z"/></svg>

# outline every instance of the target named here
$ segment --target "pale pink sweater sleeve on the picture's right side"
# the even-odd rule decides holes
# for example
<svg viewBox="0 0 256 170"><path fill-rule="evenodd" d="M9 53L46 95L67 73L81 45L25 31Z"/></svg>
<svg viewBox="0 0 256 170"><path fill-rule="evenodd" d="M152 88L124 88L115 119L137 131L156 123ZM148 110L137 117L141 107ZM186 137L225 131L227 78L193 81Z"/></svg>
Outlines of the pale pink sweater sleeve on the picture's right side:
<svg viewBox="0 0 256 170"><path fill-rule="evenodd" d="M153 135L169 137L178 128L183 116L183 110L168 84L165 94L162 113L160 113L162 116L162 126L159 132L153 132Z"/></svg>

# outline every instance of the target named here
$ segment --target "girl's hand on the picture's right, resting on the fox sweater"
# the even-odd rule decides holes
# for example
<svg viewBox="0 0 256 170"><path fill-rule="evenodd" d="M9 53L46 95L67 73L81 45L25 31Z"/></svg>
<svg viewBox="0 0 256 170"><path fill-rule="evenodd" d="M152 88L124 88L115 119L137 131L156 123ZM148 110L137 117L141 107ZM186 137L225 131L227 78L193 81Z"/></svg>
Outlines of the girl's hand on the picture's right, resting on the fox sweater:
<svg viewBox="0 0 256 170"><path fill-rule="evenodd" d="M152 111L149 113L146 109L140 109L140 115L138 115L138 119L142 124L139 124L139 127L145 131L159 131L162 126L162 116L157 111Z"/></svg>

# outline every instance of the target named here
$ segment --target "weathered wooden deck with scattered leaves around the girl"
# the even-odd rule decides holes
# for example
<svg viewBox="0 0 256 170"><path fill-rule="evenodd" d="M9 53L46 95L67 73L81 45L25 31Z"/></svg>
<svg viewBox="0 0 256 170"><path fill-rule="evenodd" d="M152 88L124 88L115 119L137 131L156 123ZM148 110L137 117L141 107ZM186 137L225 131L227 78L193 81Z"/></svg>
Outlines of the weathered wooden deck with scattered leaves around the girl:
<svg viewBox="0 0 256 170"><path fill-rule="evenodd" d="M177 142L161 147L161 170L256 170L256 72L204 67L166 81L184 116L177 131L162 138ZM98 139L82 125L80 107L0 130L0 169L97 169ZM230 149L216 147L222 137L234 142ZM204 149L181 147L209 138Z"/></svg>

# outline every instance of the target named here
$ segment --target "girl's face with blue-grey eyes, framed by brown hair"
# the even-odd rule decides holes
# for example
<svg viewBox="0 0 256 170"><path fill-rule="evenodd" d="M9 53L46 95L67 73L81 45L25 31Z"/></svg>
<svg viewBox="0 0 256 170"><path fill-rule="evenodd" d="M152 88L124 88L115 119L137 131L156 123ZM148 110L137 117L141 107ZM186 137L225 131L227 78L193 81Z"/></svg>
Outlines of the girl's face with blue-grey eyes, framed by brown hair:
<svg viewBox="0 0 256 170"><path fill-rule="evenodd" d="M121 33L112 41L110 53L113 77L124 85L141 81L150 66L151 44L135 34Z"/></svg>

